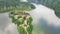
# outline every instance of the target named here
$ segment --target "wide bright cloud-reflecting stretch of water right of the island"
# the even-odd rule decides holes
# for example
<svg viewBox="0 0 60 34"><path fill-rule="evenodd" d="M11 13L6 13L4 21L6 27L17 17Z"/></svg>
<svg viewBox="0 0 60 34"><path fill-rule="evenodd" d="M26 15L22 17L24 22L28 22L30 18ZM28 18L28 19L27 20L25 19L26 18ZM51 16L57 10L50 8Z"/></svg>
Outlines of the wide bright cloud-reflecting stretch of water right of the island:
<svg viewBox="0 0 60 34"><path fill-rule="evenodd" d="M35 4L34 4L35 5ZM55 15L53 9L43 5L35 5L36 9L31 11L34 19L33 24L36 26L35 34L60 34L60 19Z"/></svg>

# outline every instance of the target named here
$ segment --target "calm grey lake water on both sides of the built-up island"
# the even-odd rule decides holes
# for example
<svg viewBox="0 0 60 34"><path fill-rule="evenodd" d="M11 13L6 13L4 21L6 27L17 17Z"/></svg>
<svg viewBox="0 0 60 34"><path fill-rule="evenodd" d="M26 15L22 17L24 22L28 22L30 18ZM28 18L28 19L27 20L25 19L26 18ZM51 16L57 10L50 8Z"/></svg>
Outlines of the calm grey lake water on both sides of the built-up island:
<svg viewBox="0 0 60 34"><path fill-rule="evenodd" d="M29 11L33 18L33 34L60 34L60 19L55 15L54 10L41 4L34 5L36 9ZM8 15L8 13L0 14L0 31L5 31L5 33L9 31L9 34L19 34L16 25L11 22Z"/></svg>

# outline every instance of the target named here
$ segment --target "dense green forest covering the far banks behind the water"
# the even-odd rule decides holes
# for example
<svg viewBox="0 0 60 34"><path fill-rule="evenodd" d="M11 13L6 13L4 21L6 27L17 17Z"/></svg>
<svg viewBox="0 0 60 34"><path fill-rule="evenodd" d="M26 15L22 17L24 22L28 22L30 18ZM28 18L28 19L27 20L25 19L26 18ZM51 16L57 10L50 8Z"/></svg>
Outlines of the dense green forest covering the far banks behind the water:
<svg viewBox="0 0 60 34"><path fill-rule="evenodd" d="M19 8L35 8L32 4L29 5L29 2L36 3L36 4L42 4L45 5L51 9L55 10L55 13L58 17L60 17L60 0L27 0L28 2L20 2L20 0L0 0L0 10L2 10L4 7L19 7ZM2 8L2 9L1 9ZM11 10L11 9L10 9ZM4 12L4 11L0 11Z"/></svg>

